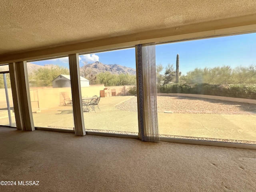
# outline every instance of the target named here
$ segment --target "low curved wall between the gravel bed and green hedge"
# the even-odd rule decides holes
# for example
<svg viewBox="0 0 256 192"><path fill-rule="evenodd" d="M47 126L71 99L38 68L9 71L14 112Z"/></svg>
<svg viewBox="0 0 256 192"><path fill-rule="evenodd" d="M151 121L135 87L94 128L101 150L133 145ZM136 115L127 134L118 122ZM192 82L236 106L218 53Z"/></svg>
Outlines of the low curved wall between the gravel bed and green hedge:
<svg viewBox="0 0 256 192"><path fill-rule="evenodd" d="M222 97L222 96L213 96L213 95L199 95L199 94L186 94L186 93L158 93L157 96L186 96L186 97L196 97L196 98L216 99L216 100L223 100L223 101L256 104L256 100L254 99L242 99L242 98Z"/></svg>

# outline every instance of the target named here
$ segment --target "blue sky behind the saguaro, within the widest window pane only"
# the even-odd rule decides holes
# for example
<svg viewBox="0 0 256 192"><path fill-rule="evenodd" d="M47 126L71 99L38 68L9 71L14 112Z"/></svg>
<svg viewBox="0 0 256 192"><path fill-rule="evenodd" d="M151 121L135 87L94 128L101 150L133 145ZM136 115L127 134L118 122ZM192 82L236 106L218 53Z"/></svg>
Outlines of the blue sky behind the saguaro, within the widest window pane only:
<svg viewBox="0 0 256 192"><path fill-rule="evenodd" d="M156 46L156 64L174 64L180 55L182 74L194 68L256 65L256 33Z"/></svg>

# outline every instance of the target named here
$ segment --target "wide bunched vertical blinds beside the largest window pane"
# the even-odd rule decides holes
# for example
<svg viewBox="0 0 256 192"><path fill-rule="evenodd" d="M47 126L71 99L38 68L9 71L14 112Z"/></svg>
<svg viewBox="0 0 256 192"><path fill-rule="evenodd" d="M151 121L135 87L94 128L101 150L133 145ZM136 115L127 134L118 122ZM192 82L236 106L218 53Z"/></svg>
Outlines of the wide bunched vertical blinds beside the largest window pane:
<svg viewBox="0 0 256 192"><path fill-rule="evenodd" d="M136 47L138 69L138 108L142 141L159 141L156 102L156 45Z"/></svg>

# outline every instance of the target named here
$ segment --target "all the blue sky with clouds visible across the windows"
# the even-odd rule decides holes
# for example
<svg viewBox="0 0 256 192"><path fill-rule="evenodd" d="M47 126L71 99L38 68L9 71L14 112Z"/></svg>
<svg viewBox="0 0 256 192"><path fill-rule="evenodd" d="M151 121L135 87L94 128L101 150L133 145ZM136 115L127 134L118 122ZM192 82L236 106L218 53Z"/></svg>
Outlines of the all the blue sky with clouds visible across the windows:
<svg viewBox="0 0 256 192"><path fill-rule="evenodd" d="M186 42L156 45L156 64L170 64L176 67L176 55L180 55L182 74L194 68L228 65L256 65L256 33L236 36L192 40ZM136 68L135 48L80 55L80 66L84 62L100 61L104 64L119 64ZM68 58L32 62L34 64L56 64L68 67Z"/></svg>

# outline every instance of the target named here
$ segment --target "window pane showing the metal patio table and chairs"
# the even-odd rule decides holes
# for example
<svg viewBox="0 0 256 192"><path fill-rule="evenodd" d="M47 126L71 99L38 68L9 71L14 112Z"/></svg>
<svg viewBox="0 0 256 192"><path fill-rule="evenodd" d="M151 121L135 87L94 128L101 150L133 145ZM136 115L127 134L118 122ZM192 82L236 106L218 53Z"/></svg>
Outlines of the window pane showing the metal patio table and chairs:
<svg viewBox="0 0 256 192"><path fill-rule="evenodd" d="M135 48L79 60L86 131L138 135Z"/></svg>

